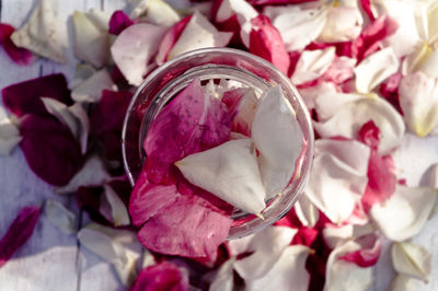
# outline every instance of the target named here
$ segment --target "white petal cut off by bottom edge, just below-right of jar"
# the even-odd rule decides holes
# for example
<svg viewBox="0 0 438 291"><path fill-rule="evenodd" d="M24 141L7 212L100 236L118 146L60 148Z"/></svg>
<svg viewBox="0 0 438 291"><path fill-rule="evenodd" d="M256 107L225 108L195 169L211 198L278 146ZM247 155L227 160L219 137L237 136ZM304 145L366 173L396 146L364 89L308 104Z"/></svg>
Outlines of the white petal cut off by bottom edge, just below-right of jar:
<svg viewBox="0 0 438 291"><path fill-rule="evenodd" d="M307 246L288 246L264 277L245 281L246 290L287 291L291 287L297 291L308 290L310 276L306 270L306 261L309 254Z"/></svg>

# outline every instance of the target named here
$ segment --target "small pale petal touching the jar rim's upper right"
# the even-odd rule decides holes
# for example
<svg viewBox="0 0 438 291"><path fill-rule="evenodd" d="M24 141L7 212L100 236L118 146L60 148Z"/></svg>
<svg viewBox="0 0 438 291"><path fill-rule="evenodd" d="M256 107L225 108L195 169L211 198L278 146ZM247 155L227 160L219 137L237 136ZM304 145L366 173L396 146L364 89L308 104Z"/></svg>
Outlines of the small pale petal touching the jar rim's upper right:
<svg viewBox="0 0 438 291"><path fill-rule="evenodd" d="M304 50L297 62L292 83L300 85L320 78L335 60L335 48Z"/></svg>

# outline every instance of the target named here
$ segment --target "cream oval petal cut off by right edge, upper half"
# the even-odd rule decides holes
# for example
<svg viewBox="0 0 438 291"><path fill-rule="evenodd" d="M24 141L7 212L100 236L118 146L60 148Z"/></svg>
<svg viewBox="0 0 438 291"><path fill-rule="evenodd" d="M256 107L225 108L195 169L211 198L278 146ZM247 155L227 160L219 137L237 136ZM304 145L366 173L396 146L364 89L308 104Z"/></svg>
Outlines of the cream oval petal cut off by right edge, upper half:
<svg viewBox="0 0 438 291"><path fill-rule="evenodd" d="M416 72L400 83L400 106L407 127L418 137L438 126L438 79Z"/></svg>

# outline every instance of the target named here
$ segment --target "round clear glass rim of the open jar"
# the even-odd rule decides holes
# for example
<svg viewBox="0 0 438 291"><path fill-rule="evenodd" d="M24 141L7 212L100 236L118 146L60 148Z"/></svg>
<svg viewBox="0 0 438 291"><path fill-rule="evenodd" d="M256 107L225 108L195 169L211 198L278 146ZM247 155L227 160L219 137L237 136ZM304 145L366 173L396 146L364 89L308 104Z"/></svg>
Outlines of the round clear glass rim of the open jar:
<svg viewBox="0 0 438 291"><path fill-rule="evenodd" d="M304 152L296 168L298 174L280 195L266 201L264 219L235 210L228 238L255 233L283 218L298 200L310 174L314 139L309 112L297 89L289 78L262 58L238 49L206 48L181 55L151 72L134 95L124 121L122 148L126 174L134 185L146 159L142 142L149 126L169 101L195 78L233 80L253 88L258 95L278 84L296 112L304 139Z"/></svg>

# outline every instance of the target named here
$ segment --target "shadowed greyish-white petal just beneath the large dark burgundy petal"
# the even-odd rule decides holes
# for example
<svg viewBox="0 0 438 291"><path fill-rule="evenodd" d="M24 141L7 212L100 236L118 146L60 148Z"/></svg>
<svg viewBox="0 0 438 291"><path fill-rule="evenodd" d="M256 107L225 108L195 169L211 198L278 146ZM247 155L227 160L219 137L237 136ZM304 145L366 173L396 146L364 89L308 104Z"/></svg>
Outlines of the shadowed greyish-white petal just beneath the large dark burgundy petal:
<svg viewBox="0 0 438 291"><path fill-rule="evenodd" d="M81 186L100 186L111 178L102 160L92 155L82 168L70 179L69 184L55 189L57 194L74 193Z"/></svg>

